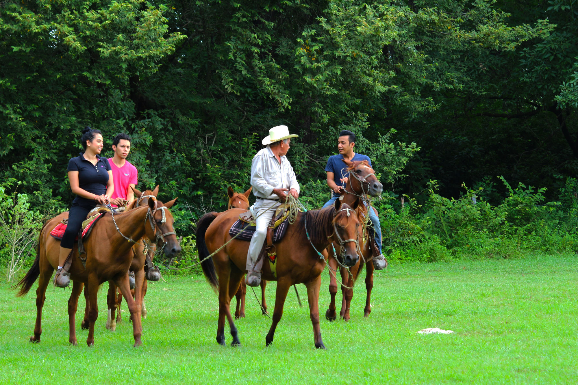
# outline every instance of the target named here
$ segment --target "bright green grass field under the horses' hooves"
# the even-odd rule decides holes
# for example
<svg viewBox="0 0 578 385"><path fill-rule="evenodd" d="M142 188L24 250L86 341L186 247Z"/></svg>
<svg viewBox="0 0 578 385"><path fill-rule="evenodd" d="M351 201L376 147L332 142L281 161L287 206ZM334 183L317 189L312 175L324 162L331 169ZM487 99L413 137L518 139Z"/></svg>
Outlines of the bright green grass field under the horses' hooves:
<svg viewBox="0 0 578 385"><path fill-rule="evenodd" d="M146 297L142 347L132 325L105 330L108 286L99 297L95 346L68 344L68 289L50 286L40 344L31 344L35 293L15 298L0 287L1 383L576 383L578 382L578 257L394 265L379 273L373 310L363 317L365 285L354 294L351 320L321 332L327 350L314 349L299 285L300 309L290 291L275 335L271 320L247 292L247 317L238 320L241 347L217 345L217 298L203 277L166 277ZM323 276L320 308L328 303ZM268 286L273 308L275 283ZM258 294L258 290L256 290ZM427 327L453 335L418 335ZM231 336L227 329L227 343Z"/></svg>

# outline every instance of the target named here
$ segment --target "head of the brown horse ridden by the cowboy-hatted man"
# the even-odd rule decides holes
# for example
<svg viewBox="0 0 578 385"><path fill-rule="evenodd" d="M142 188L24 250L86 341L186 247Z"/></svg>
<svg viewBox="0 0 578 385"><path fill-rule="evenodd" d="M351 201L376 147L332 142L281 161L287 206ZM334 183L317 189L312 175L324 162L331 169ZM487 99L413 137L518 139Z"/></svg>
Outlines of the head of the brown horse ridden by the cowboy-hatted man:
<svg viewBox="0 0 578 385"><path fill-rule="evenodd" d="M333 217L334 239L339 243L337 261L340 265L354 266L360 259L359 228L360 221L355 209L359 205L357 199L353 206L335 200L335 212Z"/></svg>

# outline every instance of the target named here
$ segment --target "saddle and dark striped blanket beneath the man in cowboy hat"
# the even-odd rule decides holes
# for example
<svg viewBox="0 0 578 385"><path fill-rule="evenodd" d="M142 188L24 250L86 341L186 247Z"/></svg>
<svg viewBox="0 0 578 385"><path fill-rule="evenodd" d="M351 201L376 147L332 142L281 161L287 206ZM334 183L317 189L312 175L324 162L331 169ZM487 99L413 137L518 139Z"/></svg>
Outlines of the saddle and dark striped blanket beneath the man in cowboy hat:
<svg viewBox="0 0 578 385"><path fill-rule="evenodd" d="M273 243L279 242L286 234L287 228L289 227L289 213L290 210L288 203L282 203L275 211L275 215L271 219L271 223L269 223L267 228L265 245L255 262L255 269L261 270L261 265L266 252L271 273L273 273L273 276L277 276L277 250ZM249 227L247 227L247 225L249 225ZM253 234L255 234L255 230L256 224L253 213L247 211L239 215L239 219L236 220L231 226L231 229L229 229L229 235L236 236L235 239L250 241L251 238L253 238Z"/></svg>

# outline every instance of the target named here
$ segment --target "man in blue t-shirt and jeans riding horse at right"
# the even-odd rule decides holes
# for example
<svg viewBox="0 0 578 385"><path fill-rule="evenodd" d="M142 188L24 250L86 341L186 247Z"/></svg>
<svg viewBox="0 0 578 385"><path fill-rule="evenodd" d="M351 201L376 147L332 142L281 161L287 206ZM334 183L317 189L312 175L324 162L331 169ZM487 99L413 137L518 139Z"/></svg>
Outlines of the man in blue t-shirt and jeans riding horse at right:
<svg viewBox="0 0 578 385"><path fill-rule="evenodd" d="M353 132L344 129L339 133L339 139L337 140L337 149L339 150L339 155L332 155L327 160L327 165L325 166L325 171L327 172L327 185L333 190L331 199L323 205L323 208L329 205L334 205L335 199L339 197L339 193L345 190L347 184L347 177L349 172L347 172L347 165L343 160L353 162L353 161L363 161L366 160L371 165L371 160L368 156L356 154L353 151L355 146L355 134ZM386 266L386 259L381 253L381 225L379 223L379 218L376 213L369 209L369 219L373 224L373 229L375 229L375 243L377 249L379 249L379 256L373 258L373 267L376 270L381 270Z"/></svg>

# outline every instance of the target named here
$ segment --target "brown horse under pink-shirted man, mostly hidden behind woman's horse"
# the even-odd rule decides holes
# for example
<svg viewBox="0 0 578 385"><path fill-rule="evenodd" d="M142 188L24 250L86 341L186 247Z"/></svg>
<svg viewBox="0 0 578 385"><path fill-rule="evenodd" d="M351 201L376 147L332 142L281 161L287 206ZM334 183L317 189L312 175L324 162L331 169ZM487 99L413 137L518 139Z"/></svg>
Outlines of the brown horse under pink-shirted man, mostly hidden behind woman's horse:
<svg viewBox="0 0 578 385"><path fill-rule="evenodd" d="M149 198L151 197L157 198L158 195L158 185L154 188L154 190L145 190L143 193L141 193L139 190L136 190L136 188L133 188L132 190L134 190L135 197L137 199L134 199L132 202L128 203L127 210L134 209L138 206L147 205L149 202ZM162 247L163 245L164 243L162 241L162 237L157 236L155 242L151 243L150 239L144 236L142 239L139 239L134 246L132 246L132 253L134 254L134 258L132 260L130 270L134 272L140 272L135 273L135 289L131 290L132 298L135 299L137 305L139 305L139 303L137 301L137 296L135 294L136 276L146 277L146 273L144 273L144 268L146 265L147 257L149 257L150 261L152 261L156 247L157 246ZM147 310L146 306L144 305L144 296L147 293L147 288L149 287L149 285L147 279L143 279L142 281L143 282L140 290L140 296L138 298L140 298L141 301L140 303L141 315L143 318L146 319ZM84 289L84 297L86 299L86 310L84 312L84 321L82 322L81 327L83 329L86 329L88 327L88 308L89 308L88 293L86 288ZM122 301L123 301L123 294L121 293L120 290L118 290L118 287L116 286L116 284L114 284L113 281L109 281L109 290L106 296L106 304L108 306L108 316L106 319L105 327L110 331L115 331L116 324L122 321L122 317L120 315L120 305ZM117 309L118 313L116 313ZM115 314L117 314L116 317Z"/></svg>

